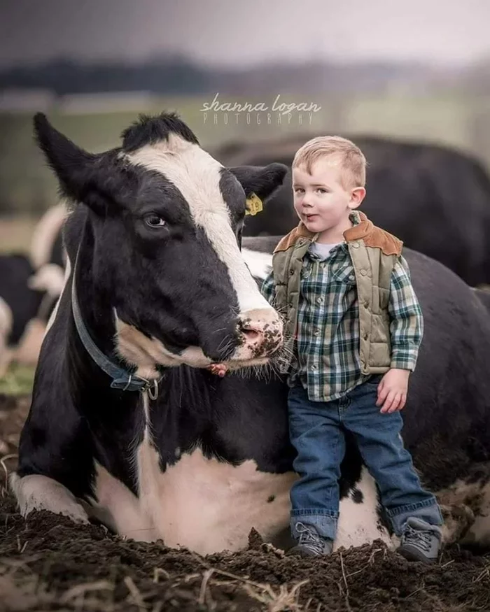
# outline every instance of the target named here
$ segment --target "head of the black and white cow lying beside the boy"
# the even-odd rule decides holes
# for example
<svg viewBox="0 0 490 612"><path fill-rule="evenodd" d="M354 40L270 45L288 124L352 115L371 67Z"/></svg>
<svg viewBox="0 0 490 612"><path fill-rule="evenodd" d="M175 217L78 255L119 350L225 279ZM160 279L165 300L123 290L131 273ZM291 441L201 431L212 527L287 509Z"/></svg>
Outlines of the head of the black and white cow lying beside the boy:
<svg viewBox="0 0 490 612"><path fill-rule="evenodd" d="M174 114L142 116L100 154L41 113L34 126L64 196L89 209L92 280L109 296L120 355L139 367L267 361L281 320L239 244L246 197L267 199L287 167L225 168Z"/></svg>

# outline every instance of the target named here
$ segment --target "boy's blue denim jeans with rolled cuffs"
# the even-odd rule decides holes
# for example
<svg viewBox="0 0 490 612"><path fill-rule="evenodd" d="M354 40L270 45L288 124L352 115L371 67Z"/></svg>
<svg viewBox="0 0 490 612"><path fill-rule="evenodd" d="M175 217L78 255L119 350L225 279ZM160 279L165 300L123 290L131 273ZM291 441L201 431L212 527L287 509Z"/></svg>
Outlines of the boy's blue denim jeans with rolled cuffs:
<svg viewBox="0 0 490 612"><path fill-rule="evenodd" d="M294 537L299 521L314 525L324 538L335 539L340 463L345 453L342 429L355 437L395 534L402 534L412 516L442 525L437 501L421 487L412 457L403 446L400 413L382 414L381 406L376 406L380 380L381 376L372 376L340 399L327 402L310 401L301 386L290 389L290 439L297 450L293 467L300 476L290 492Z"/></svg>

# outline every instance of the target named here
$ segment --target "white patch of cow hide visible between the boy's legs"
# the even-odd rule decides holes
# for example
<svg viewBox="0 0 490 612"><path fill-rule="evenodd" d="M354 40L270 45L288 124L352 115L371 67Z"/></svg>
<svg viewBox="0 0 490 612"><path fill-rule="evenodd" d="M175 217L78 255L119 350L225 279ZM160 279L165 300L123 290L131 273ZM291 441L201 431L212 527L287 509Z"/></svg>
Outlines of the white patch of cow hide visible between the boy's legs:
<svg viewBox="0 0 490 612"><path fill-rule="evenodd" d="M360 481L355 487L362 494L363 501L360 504L353 501L352 492L340 500L334 550L341 546L345 548L362 546L376 539L381 539L387 546L393 548L394 544L388 530L379 526L376 483L365 466L361 470Z"/></svg>

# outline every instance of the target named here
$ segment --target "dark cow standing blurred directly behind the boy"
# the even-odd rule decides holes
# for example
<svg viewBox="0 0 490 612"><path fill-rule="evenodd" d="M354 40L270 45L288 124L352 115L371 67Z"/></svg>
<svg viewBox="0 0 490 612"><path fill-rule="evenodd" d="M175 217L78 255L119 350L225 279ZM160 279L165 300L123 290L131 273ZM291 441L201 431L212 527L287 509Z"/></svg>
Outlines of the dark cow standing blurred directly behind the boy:
<svg viewBox="0 0 490 612"><path fill-rule="evenodd" d="M344 134L342 134L344 135ZM362 209L405 245L440 261L468 285L490 283L490 180L470 155L443 146L346 134L367 158ZM229 143L223 164L290 166L308 134L267 143ZM297 225L290 172L263 213L248 217L244 236L284 235Z"/></svg>

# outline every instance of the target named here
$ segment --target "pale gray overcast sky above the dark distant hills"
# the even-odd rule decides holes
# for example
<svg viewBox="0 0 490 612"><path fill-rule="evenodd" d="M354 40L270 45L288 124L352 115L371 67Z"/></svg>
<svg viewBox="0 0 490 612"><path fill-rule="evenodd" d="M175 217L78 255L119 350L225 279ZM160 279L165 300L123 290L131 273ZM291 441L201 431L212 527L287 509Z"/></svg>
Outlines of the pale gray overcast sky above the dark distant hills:
<svg viewBox="0 0 490 612"><path fill-rule="evenodd" d="M0 0L0 64L52 57L204 62L490 58L490 0Z"/></svg>

